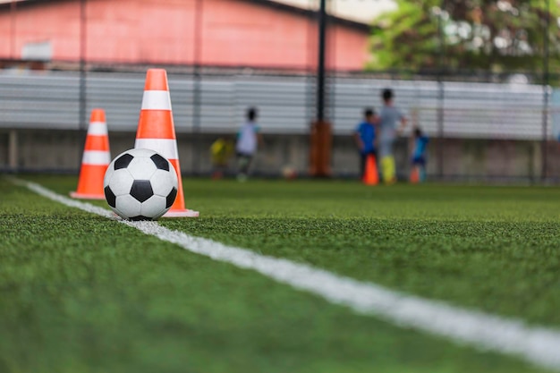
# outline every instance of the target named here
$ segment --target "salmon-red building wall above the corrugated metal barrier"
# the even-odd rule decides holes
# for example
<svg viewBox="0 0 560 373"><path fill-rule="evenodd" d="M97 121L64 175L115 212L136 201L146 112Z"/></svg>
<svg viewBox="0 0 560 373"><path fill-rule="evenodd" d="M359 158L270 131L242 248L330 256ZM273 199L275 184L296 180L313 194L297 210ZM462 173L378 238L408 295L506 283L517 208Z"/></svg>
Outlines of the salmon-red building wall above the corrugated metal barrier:
<svg viewBox="0 0 560 373"><path fill-rule="evenodd" d="M89 0L86 58L91 62L193 64L196 0ZM241 0L204 0L199 62L314 67L316 24L304 15ZM79 1L19 5L0 12L0 58L21 58L26 43L50 41L53 60L81 53ZM360 70L367 32L334 25L331 66Z"/></svg>

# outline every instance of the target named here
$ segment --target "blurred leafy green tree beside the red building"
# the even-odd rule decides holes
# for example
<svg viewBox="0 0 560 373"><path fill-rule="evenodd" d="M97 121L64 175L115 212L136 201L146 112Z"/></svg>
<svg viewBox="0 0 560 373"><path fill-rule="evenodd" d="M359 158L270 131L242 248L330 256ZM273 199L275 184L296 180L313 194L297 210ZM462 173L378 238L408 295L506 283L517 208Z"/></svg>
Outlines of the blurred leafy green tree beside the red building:
<svg viewBox="0 0 560 373"><path fill-rule="evenodd" d="M396 3L375 21L369 69L542 71L545 35L550 68L560 66L556 0Z"/></svg>

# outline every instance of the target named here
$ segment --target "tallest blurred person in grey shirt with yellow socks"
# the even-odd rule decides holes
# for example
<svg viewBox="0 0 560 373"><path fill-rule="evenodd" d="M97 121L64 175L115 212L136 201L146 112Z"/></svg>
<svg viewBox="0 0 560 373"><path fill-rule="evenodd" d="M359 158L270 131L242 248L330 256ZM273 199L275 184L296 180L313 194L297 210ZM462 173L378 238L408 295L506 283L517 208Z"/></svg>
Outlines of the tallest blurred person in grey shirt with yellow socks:
<svg viewBox="0 0 560 373"><path fill-rule="evenodd" d="M379 158L383 182L390 184L396 182L393 145L397 135L406 127L407 119L403 112L394 106L392 89L383 89L381 97L383 107L379 111Z"/></svg>

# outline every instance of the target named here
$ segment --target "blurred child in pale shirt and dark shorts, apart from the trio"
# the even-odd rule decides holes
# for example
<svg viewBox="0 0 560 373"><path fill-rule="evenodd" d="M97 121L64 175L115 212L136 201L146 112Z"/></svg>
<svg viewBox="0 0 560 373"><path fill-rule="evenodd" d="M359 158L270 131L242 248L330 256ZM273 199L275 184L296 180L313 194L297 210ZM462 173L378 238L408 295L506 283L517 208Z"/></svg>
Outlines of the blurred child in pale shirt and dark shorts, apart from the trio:
<svg viewBox="0 0 560 373"><path fill-rule="evenodd" d="M260 134L260 128L257 124L257 115L258 113L255 107L247 109L247 122L237 133L235 150L237 152L239 167L237 180L240 182L247 180L252 158L255 156L259 144L262 145L262 135Z"/></svg>

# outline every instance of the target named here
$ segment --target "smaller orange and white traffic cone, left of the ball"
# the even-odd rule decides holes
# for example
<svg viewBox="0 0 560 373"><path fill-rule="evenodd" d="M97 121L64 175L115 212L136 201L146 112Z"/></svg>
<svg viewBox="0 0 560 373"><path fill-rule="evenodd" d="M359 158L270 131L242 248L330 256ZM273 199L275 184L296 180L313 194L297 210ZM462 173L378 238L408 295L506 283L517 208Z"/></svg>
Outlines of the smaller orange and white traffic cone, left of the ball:
<svg viewBox="0 0 560 373"><path fill-rule="evenodd" d="M103 178L111 163L109 136L103 109L93 109L89 117L88 135L81 157L80 177L77 191L71 191L75 199L105 199Z"/></svg>

